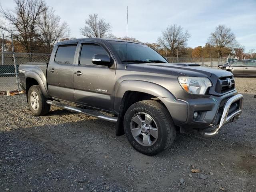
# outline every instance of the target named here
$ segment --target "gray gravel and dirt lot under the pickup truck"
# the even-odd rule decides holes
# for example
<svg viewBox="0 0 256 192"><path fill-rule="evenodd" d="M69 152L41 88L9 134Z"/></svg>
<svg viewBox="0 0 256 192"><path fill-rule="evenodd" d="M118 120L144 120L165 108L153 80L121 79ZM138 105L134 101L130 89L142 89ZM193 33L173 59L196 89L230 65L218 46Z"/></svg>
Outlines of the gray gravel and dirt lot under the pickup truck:
<svg viewBox="0 0 256 192"><path fill-rule="evenodd" d="M0 96L0 191L256 191L256 78L236 86L237 122L210 139L177 134L157 156L116 137L114 123L57 107L37 117L26 95Z"/></svg>

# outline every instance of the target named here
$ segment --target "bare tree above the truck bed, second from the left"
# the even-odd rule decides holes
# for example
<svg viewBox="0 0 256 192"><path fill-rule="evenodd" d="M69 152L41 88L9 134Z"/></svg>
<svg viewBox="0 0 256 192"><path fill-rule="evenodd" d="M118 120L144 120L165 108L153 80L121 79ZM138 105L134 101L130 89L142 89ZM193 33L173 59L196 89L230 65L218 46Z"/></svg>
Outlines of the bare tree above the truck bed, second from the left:
<svg viewBox="0 0 256 192"><path fill-rule="evenodd" d="M42 42L46 52L50 53L54 44L60 38L67 38L70 29L66 22L60 22L60 16L54 14L53 8L48 8L42 12L39 22L38 39Z"/></svg>

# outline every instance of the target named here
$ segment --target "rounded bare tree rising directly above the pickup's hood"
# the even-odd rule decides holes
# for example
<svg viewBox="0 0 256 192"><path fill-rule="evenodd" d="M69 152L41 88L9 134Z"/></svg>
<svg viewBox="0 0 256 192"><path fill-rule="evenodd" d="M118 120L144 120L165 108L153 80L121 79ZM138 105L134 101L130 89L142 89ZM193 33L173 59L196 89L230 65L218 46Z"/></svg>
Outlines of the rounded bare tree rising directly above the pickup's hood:
<svg viewBox="0 0 256 192"><path fill-rule="evenodd" d="M186 47L186 42L190 38L190 34L187 30L184 30L181 26L169 25L166 30L162 32L162 37L158 37L158 44L169 50L171 56L182 54Z"/></svg>

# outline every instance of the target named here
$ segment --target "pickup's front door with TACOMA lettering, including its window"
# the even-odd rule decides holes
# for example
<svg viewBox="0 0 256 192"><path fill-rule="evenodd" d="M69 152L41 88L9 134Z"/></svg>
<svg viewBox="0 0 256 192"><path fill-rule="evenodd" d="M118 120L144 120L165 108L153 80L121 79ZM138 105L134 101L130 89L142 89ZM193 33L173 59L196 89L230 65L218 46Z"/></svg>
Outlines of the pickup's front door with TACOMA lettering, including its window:
<svg viewBox="0 0 256 192"><path fill-rule="evenodd" d="M114 105L115 66L93 64L94 54L110 55L110 52L99 42L82 42L78 64L74 67L74 101L111 111Z"/></svg>

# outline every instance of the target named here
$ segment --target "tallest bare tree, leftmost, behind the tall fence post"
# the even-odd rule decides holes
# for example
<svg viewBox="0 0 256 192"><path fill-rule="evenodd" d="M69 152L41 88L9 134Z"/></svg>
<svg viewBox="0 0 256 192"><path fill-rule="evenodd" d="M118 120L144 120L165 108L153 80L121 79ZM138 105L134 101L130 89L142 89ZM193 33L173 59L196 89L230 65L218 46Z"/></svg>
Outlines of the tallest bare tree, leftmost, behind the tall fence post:
<svg viewBox="0 0 256 192"><path fill-rule="evenodd" d="M12 33L14 39L24 45L27 53L33 53L38 38L38 20L46 10L46 4L44 0L14 0L14 3L14 10L0 7L2 18L7 22L0 28Z"/></svg>

